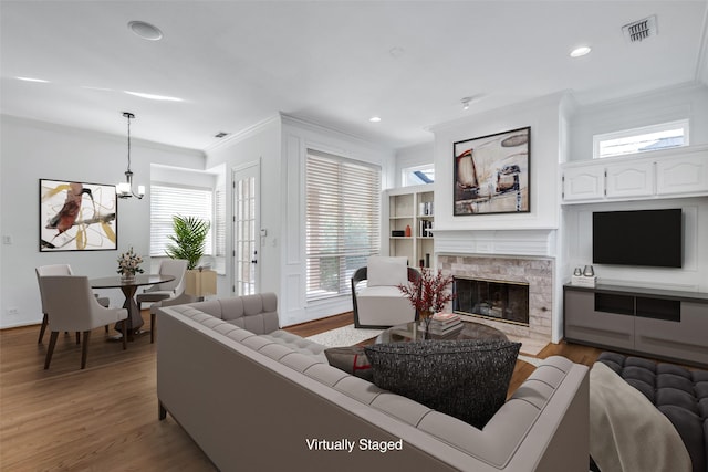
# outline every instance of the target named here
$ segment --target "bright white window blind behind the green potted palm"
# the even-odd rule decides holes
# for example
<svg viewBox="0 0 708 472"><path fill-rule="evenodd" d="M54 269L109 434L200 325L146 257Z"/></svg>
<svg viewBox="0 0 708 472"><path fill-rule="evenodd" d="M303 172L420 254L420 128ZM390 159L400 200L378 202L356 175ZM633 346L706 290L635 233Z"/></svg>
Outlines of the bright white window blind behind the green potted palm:
<svg viewBox="0 0 708 472"><path fill-rule="evenodd" d="M214 198L211 189L196 189L166 185L150 186L150 255L165 256L171 243L173 217L196 217L209 221L205 254L212 254Z"/></svg>

